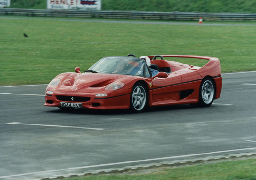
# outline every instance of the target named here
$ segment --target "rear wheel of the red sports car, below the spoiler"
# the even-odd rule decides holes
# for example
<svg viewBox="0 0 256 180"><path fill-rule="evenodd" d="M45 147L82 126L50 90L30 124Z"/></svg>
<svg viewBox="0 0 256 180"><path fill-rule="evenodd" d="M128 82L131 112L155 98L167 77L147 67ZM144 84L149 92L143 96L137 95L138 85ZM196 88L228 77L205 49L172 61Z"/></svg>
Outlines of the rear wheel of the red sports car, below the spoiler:
<svg viewBox="0 0 256 180"><path fill-rule="evenodd" d="M201 82L199 89L199 105L201 107L209 107L215 97L215 86L214 82L210 78L205 78Z"/></svg>

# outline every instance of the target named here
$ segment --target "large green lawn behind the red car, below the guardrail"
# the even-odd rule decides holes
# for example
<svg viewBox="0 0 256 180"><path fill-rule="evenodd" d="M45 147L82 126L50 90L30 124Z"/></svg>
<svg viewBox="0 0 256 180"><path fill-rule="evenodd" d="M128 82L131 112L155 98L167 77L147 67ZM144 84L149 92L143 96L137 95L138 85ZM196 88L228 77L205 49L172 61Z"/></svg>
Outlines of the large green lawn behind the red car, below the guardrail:
<svg viewBox="0 0 256 180"><path fill-rule="evenodd" d="M137 57L213 56L220 59L222 72L256 70L256 26L126 24L64 18L0 18L0 22L0 86L47 84L62 72L74 72L77 66L86 70L102 57L129 53Z"/></svg>

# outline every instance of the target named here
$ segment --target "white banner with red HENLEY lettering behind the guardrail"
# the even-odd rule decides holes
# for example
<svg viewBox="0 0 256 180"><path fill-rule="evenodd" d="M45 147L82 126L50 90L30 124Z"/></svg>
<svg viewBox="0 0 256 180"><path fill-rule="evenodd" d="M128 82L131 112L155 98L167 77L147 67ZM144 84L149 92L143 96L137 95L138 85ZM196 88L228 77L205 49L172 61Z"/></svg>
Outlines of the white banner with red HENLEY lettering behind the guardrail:
<svg viewBox="0 0 256 180"><path fill-rule="evenodd" d="M47 9L101 10L101 0L47 0Z"/></svg>

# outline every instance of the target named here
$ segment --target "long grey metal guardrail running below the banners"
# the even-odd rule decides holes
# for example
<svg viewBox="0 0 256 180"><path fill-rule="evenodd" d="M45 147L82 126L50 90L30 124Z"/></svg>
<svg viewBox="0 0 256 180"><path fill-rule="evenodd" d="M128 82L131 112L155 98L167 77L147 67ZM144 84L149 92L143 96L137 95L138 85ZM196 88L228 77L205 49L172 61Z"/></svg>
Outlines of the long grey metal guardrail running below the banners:
<svg viewBox="0 0 256 180"><path fill-rule="evenodd" d="M113 19L155 19L198 21L256 21L256 14L250 13L201 13L201 12L151 12L151 11L81 11L81 10L38 10L2 8L0 15L82 17Z"/></svg>

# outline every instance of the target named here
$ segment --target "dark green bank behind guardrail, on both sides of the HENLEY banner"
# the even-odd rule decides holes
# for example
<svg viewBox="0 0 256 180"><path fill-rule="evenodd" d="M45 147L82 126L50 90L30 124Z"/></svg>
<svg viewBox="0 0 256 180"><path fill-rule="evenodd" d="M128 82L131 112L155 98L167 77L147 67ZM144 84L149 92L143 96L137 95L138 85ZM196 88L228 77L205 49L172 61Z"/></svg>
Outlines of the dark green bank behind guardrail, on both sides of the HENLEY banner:
<svg viewBox="0 0 256 180"><path fill-rule="evenodd" d="M11 0L10 8L46 9L46 0ZM102 10L256 13L251 0L102 0Z"/></svg>

